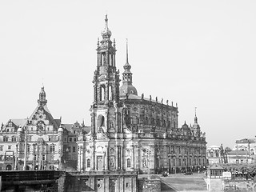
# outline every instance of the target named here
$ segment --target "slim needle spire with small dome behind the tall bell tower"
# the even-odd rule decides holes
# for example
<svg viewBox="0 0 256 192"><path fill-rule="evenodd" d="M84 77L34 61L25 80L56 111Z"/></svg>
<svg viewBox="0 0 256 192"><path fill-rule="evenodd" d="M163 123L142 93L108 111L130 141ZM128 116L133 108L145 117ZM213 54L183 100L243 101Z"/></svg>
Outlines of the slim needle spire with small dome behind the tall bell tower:
<svg viewBox="0 0 256 192"><path fill-rule="evenodd" d="M128 62L128 40L126 39L126 64L123 66L125 70L122 73L122 86L120 87L120 96L126 94L138 95L136 88L133 86L133 74L130 72L131 66Z"/></svg>

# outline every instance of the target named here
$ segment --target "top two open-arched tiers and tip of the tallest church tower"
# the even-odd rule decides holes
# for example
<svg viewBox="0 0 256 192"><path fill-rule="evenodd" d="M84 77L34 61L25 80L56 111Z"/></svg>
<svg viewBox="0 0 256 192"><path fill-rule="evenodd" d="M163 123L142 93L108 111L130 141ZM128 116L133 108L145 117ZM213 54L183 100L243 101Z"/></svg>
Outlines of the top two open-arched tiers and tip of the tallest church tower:
<svg viewBox="0 0 256 192"><path fill-rule="evenodd" d="M102 40L97 43L97 70L94 71L94 104L111 105L119 100L119 72L115 66L115 40L110 40L108 18L102 30Z"/></svg>

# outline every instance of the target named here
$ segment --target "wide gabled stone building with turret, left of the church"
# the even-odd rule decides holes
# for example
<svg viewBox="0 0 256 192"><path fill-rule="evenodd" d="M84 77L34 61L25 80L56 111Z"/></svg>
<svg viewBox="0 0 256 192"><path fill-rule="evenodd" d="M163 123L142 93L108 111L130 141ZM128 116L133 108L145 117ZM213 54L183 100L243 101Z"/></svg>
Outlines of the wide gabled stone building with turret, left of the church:
<svg viewBox="0 0 256 192"><path fill-rule="evenodd" d="M10 119L0 130L1 170L77 168L77 139L86 126L62 124L46 106L44 87L30 118Z"/></svg>

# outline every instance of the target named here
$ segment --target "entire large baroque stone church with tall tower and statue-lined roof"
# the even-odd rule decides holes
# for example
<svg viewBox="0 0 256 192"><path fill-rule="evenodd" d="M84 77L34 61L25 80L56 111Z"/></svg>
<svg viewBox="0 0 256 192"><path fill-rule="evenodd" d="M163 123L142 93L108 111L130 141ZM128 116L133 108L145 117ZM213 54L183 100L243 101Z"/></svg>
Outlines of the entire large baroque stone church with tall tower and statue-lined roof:
<svg viewBox="0 0 256 192"><path fill-rule="evenodd" d="M120 86L111 35L106 17L97 47L91 129L78 137L78 170L85 174L202 170L206 166L206 134L202 134L197 116L193 126L185 122L179 128L177 104L138 95L127 45Z"/></svg>

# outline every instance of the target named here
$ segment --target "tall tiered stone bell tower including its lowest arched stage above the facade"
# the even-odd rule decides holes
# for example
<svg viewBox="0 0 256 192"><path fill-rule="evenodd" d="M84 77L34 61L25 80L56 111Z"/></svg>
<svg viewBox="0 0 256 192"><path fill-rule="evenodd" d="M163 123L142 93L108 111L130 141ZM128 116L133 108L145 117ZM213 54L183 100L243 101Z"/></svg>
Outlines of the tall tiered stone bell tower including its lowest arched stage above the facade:
<svg viewBox="0 0 256 192"><path fill-rule="evenodd" d="M115 65L115 40L111 41L108 18L97 43L97 68L94 71L94 102L91 106L92 133L115 132L119 102L119 71ZM104 135L104 134L103 134Z"/></svg>

